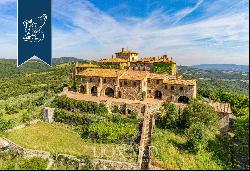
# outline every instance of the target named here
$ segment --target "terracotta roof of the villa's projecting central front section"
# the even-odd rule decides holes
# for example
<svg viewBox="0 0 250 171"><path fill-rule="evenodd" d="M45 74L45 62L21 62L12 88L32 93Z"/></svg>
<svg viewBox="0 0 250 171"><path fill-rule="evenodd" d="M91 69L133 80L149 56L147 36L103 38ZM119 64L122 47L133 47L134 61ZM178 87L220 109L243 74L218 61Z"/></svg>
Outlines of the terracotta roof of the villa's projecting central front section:
<svg viewBox="0 0 250 171"><path fill-rule="evenodd" d="M149 76L148 71L127 70L119 79L122 80L143 80Z"/></svg>

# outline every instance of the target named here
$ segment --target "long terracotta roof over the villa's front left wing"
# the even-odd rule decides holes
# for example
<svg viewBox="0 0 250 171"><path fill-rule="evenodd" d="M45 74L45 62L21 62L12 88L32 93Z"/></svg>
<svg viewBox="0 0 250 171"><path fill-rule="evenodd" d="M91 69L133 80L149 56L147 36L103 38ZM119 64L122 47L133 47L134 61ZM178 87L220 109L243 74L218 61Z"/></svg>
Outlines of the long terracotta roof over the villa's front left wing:
<svg viewBox="0 0 250 171"><path fill-rule="evenodd" d="M89 68L85 71L80 72L79 76L83 77L119 77L121 76L125 70L119 70L119 69L93 69Z"/></svg>

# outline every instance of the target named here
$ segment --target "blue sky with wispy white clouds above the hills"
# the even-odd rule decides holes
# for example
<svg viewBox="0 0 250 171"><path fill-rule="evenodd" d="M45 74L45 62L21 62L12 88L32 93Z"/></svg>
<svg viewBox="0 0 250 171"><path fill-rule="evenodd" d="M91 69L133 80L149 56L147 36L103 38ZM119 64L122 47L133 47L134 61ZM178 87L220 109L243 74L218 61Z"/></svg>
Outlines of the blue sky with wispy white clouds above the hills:
<svg viewBox="0 0 250 171"><path fill-rule="evenodd" d="M53 57L122 47L181 65L249 63L248 0L52 0ZM16 0L0 0L0 57L16 58Z"/></svg>

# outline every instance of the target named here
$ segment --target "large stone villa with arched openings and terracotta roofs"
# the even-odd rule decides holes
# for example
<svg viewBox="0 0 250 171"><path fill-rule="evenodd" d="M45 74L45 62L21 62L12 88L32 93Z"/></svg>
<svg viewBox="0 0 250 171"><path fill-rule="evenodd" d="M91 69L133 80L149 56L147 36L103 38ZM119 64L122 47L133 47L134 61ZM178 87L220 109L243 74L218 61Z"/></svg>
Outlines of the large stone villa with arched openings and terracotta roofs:
<svg viewBox="0 0 250 171"><path fill-rule="evenodd" d="M167 55L139 58L137 52L121 50L97 64L76 63L74 76L81 78L78 91L93 96L143 100L154 98L187 103L196 97L196 80L184 80Z"/></svg>

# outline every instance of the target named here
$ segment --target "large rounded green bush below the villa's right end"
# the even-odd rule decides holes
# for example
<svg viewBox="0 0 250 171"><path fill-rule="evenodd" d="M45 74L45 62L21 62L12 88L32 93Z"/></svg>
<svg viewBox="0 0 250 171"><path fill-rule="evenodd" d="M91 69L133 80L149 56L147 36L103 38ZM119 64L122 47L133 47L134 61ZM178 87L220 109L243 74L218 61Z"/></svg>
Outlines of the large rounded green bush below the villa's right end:
<svg viewBox="0 0 250 171"><path fill-rule="evenodd" d="M188 144L195 151L207 146L209 138L219 130L219 114L207 103L200 100L192 100L184 109Z"/></svg>

